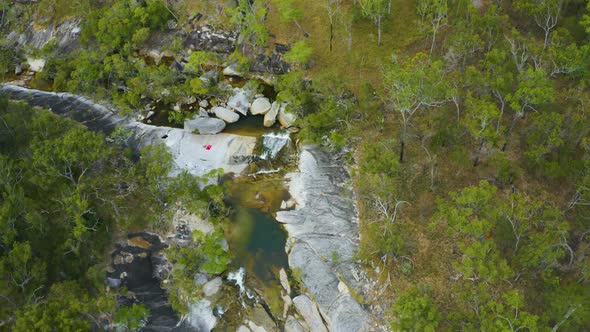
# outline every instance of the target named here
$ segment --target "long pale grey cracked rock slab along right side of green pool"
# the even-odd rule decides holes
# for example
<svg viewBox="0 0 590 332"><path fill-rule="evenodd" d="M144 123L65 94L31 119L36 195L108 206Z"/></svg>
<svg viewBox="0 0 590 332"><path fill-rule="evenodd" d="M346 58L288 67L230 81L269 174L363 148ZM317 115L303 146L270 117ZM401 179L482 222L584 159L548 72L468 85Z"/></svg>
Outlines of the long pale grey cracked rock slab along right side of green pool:
<svg viewBox="0 0 590 332"><path fill-rule="evenodd" d="M362 285L355 277L360 270L353 261L358 217L352 194L345 194L346 170L318 147L304 146L299 171L288 178L297 205L277 212L276 219L285 224L292 243L289 265L301 269L303 284L331 331L370 330L368 313L338 288L339 278L357 291ZM338 262L332 262L334 252Z"/></svg>

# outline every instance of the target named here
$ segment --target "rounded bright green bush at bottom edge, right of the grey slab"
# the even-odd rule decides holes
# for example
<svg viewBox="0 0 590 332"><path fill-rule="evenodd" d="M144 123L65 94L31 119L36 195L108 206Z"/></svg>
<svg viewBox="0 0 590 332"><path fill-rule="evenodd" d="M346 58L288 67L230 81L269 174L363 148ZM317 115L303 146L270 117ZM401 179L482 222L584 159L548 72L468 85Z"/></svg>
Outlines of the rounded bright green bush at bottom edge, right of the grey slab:
<svg viewBox="0 0 590 332"><path fill-rule="evenodd" d="M430 296L416 287L399 294L392 308L395 331L437 331L441 314Z"/></svg>

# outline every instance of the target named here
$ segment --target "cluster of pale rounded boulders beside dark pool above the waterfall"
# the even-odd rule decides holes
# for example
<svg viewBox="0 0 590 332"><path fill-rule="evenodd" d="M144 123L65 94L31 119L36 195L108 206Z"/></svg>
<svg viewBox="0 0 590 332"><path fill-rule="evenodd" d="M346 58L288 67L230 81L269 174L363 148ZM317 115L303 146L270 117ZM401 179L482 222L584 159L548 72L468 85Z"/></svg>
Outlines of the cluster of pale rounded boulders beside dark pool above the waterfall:
<svg viewBox="0 0 590 332"><path fill-rule="evenodd" d="M289 104L278 103L261 94L253 95L248 90L236 88L233 95L223 106L210 107L207 100L199 102L199 111L184 122L184 129L195 134L217 134L225 129L227 123L235 123L241 117L263 115L263 125L272 127L278 122L284 128L292 127L297 115L288 110Z"/></svg>

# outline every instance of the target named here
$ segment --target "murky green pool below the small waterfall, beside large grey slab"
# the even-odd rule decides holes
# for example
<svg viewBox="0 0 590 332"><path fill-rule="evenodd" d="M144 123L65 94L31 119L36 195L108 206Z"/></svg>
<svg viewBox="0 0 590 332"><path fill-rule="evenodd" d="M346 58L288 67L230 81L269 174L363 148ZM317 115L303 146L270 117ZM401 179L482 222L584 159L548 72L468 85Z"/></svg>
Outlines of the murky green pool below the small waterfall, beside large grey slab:
<svg viewBox="0 0 590 332"><path fill-rule="evenodd" d="M282 175L234 179L229 204L233 209L226 230L233 268L246 269L246 284L256 289L276 317L282 314L279 271L289 273L285 253L287 233L274 219L281 201L288 199Z"/></svg>

